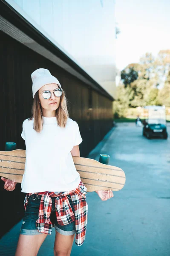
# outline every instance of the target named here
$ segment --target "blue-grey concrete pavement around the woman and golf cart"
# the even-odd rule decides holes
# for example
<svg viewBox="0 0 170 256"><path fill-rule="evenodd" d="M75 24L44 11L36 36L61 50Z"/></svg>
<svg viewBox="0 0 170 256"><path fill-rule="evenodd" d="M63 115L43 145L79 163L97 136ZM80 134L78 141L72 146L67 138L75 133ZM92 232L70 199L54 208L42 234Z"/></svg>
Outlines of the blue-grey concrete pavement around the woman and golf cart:
<svg viewBox="0 0 170 256"><path fill-rule="evenodd" d="M147 140L142 128L122 123L89 157L101 153L124 170L126 184L108 201L87 193L86 240L71 256L170 256L170 139ZM19 230L20 223L3 236L0 255L14 255ZM54 239L53 230L38 256L53 255Z"/></svg>

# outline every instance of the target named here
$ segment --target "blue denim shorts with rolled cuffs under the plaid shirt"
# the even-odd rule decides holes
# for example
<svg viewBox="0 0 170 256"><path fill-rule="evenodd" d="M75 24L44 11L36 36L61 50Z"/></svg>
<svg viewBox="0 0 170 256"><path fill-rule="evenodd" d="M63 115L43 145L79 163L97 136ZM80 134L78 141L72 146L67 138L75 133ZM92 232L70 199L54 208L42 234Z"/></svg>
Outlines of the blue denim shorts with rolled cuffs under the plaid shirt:
<svg viewBox="0 0 170 256"><path fill-rule="evenodd" d="M33 194L29 197L26 211L23 216L23 222L20 229L20 234L22 235L42 234L36 228L36 220L38 219L41 196L42 195ZM72 207L72 211L74 212L74 207L72 204L71 197L70 195L67 195L67 197L69 199L70 206ZM58 233L65 236L75 234L75 221L72 221L71 223L63 226L58 224L56 214L55 214L55 198L52 198L52 212L49 218L52 221L52 224L54 225L55 230L57 230Z"/></svg>

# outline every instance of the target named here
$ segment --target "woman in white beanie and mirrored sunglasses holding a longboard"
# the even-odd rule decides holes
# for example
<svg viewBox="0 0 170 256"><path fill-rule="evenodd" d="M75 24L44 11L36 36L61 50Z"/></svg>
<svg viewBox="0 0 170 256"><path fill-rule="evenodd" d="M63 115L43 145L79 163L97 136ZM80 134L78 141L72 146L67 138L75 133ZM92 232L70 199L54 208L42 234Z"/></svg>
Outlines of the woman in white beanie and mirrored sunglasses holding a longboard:
<svg viewBox="0 0 170 256"><path fill-rule="evenodd" d="M80 157L82 142L78 124L69 118L66 97L58 79L40 68L32 75L32 117L23 122L26 143L22 192L26 192L16 256L35 256L52 226L54 255L69 256L75 243L83 244L87 224L86 187L72 156ZM16 182L2 178L4 189ZM113 197L111 190L96 191L101 200ZM81 213L81 214L80 214Z"/></svg>

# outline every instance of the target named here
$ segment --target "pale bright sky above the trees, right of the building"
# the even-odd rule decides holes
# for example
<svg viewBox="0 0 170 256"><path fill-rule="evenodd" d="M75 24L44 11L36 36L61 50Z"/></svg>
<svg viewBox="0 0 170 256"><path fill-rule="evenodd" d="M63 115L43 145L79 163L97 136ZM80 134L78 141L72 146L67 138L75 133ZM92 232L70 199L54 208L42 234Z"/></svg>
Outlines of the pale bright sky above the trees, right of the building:
<svg viewBox="0 0 170 256"><path fill-rule="evenodd" d="M119 70L138 62L146 52L170 49L170 0L115 0Z"/></svg>

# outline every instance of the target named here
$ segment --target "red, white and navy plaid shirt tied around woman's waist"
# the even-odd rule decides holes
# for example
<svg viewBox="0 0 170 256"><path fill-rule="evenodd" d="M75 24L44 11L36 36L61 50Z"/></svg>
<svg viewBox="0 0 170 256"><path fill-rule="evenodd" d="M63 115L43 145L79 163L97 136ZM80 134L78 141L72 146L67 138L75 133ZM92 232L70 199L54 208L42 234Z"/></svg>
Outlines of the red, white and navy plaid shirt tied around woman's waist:
<svg viewBox="0 0 170 256"><path fill-rule="evenodd" d="M83 244L86 236L87 212L88 205L86 203L87 189L81 181L78 187L66 192L38 192L37 195L42 195L40 200L40 208L38 219L36 221L37 230L40 233L51 235L52 222L49 218L52 211L52 197L55 197L55 213L58 224L63 226L75 221L75 244L80 246ZM24 199L24 208L28 204L29 196L35 193L27 193ZM71 196L75 213L72 211L67 195Z"/></svg>

